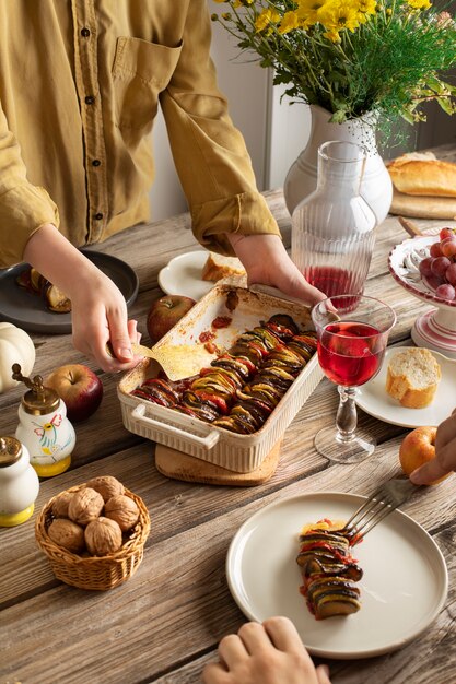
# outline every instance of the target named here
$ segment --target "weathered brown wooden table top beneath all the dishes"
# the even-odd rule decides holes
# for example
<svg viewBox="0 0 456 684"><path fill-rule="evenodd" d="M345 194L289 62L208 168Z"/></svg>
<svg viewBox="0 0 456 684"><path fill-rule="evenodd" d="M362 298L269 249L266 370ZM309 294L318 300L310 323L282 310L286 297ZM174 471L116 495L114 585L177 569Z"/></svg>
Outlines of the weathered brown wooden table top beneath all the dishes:
<svg viewBox="0 0 456 684"><path fill-rule="evenodd" d="M443 152L449 156L454 150ZM289 239L290 220L281 192L267 193L267 199ZM409 343L412 322L429 308L398 286L387 270L389 250L406 237L396 217L388 217L378 228L366 287L367 294L381 295L396 309L398 322L391 343ZM162 294L156 280L160 269L176 255L197 248L187 214L127 231L96 247L137 271L140 292L130 312L139 321L145 344L147 311ZM33 339L34 374L46 376L63 363L87 363L73 350L70 335L34 334ZM120 587L107 592L83 591L55 579L35 544L36 512L22 526L1 529L1 684L198 682L203 665L214 659L220 638L245 622L224 570L230 541L239 526L272 502L325 490L367 495L398 472L398 447L407 431L362 412L361 423L378 440L373 458L361 467L339 465L317 455L314 434L334 424L337 406L336 389L325 379L288 428L279 468L266 484L233 488L167 480L155 470L154 444L122 426L116 396L119 378L103 373L101 377L103 403L89 421L77 425L71 469L42 481L36 511L69 486L95 475L115 475L149 508L152 529L144 559ZM0 396L1 435L14 434L22 393L17 388ZM448 404L448 413L456 401ZM366 660L331 661L332 682L456 682L455 504L455 481L448 479L418 503L404 506L446 558L449 593L445 609L425 634L399 651Z"/></svg>

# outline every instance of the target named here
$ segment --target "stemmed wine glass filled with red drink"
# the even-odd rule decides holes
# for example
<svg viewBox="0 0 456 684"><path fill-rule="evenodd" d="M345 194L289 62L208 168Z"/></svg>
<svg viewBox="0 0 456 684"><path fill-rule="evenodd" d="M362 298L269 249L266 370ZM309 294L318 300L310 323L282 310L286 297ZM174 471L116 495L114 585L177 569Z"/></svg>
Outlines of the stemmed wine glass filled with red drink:
<svg viewBox="0 0 456 684"><path fill-rule="evenodd" d="M325 427L315 435L315 448L338 463L360 463L375 449L375 438L356 431L356 388L381 369L395 311L379 299L337 295L312 309L318 339L318 361L325 375L338 386L340 402L336 431Z"/></svg>

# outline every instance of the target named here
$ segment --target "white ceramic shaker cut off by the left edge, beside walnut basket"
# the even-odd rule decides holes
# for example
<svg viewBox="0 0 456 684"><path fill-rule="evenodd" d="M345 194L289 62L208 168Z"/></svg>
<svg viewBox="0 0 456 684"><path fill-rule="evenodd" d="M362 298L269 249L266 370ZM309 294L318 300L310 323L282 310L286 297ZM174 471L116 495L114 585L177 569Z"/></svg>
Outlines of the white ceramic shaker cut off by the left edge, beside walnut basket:
<svg viewBox="0 0 456 684"><path fill-rule="evenodd" d="M28 520L39 492L27 448L15 437L0 437L0 527Z"/></svg>

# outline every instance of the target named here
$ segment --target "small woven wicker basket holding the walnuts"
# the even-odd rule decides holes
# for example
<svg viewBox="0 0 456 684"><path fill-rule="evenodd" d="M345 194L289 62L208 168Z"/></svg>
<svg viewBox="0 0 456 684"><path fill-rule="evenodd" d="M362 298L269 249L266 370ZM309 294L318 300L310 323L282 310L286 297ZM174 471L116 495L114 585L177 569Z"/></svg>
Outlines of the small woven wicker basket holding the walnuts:
<svg viewBox="0 0 456 684"><path fill-rule="evenodd" d="M84 486L85 484L81 484L71 487L68 492L78 492ZM139 520L132 530L124 533L121 549L107 556L79 556L52 542L47 530L54 520L51 510L57 497L54 496L46 504L36 519L35 536L39 547L49 558L57 579L80 589L105 591L125 582L136 573L142 561L144 543L149 535L150 518L139 496L127 488L125 494L137 504Z"/></svg>

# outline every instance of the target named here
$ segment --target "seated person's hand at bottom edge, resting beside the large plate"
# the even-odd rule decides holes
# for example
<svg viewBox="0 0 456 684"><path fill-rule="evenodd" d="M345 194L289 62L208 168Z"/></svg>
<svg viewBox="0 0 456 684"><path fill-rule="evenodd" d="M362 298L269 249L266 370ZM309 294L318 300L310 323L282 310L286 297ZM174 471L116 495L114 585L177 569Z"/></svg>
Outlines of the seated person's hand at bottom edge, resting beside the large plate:
<svg viewBox="0 0 456 684"><path fill-rule="evenodd" d="M246 623L220 641L219 658L204 668L204 684L330 684L328 668L314 667L288 617Z"/></svg>

